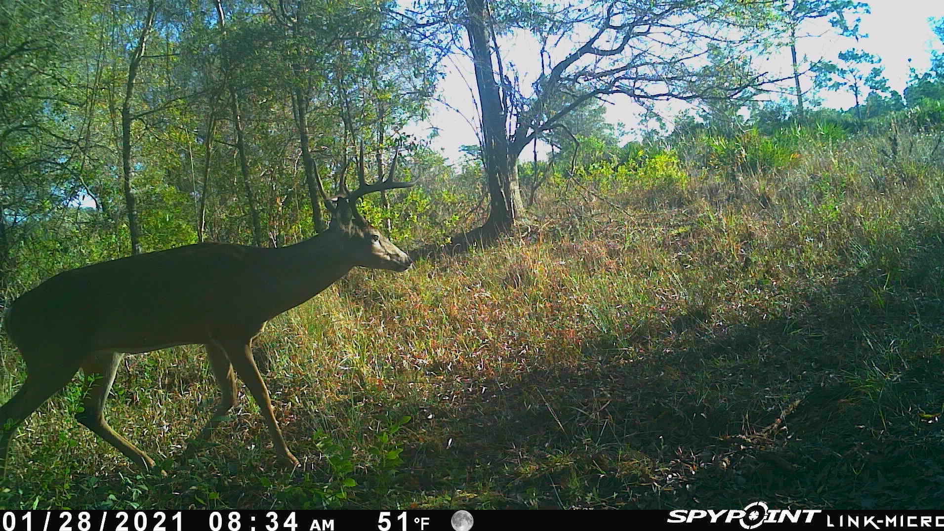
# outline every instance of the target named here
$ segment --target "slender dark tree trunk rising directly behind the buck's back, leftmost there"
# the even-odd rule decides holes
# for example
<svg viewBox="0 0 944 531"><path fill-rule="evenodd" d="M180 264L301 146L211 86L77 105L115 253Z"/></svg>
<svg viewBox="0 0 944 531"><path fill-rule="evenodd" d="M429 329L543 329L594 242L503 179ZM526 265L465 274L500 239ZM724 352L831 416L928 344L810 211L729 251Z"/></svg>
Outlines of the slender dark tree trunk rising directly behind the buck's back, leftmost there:
<svg viewBox="0 0 944 531"><path fill-rule="evenodd" d="M125 84L125 100L121 106L121 166L122 180L125 189L125 206L127 210L127 228L131 234L131 254L140 255L141 247L141 222L138 220L138 201L131 189L131 178L134 176L133 163L131 160L131 122L134 117L131 114L131 98L134 95L134 81L138 76L138 68L144 57L144 46L147 37L151 32L151 26L154 24L154 0L147 3L147 16L141 28L141 37L134 51L131 52L131 58L127 67L127 82Z"/></svg>

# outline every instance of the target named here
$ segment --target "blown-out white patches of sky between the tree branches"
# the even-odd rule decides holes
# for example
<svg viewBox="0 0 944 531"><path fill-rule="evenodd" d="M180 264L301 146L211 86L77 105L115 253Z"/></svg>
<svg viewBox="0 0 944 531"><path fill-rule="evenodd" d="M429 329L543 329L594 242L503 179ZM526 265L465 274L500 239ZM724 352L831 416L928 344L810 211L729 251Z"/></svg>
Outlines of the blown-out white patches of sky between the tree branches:
<svg viewBox="0 0 944 531"><path fill-rule="evenodd" d="M827 58L835 60L836 55L845 49L856 46L882 58L888 85L894 91L903 91L908 80L909 68L914 67L922 73L930 66L931 50L942 51L941 42L928 22L930 17L944 16L944 0L870 0L871 13L863 14L860 29L868 34L866 39L856 45L851 39L831 37L809 37L798 44L798 52L808 58ZM829 29L828 24L809 27L810 34L823 34ZM516 41L507 48L507 58L518 64L533 61L536 51L526 39ZM911 62L909 62L911 59ZM790 72L788 53L770 58L758 66L773 73L786 75ZM435 129L438 135L431 140L434 149L449 160L456 162L462 155L460 147L477 144L476 127L478 117L472 101L474 75L470 63L461 59L447 62L446 78L441 82L438 97L442 102L433 103L430 120L426 124L417 124L413 134L425 138ZM822 91L819 94L823 104L832 108L851 108L851 94L845 92ZM607 108L607 121L622 122L627 129L638 130L639 121L636 107L626 98L614 98ZM666 117L683 108L681 105L667 107ZM632 137L630 137L632 138ZM624 140L630 140L630 138Z"/></svg>

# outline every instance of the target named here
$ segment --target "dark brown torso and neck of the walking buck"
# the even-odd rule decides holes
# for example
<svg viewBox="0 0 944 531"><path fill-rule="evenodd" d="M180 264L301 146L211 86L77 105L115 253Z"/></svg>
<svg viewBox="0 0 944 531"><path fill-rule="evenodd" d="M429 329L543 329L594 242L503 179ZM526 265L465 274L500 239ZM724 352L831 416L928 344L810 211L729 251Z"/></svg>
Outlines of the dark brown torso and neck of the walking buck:
<svg viewBox="0 0 944 531"><path fill-rule="evenodd" d="M21 348L73 353L252 337L354 267L329 254L330 237L276 249L196 243L66 271L17 299L5 326ZM31 335L38 323L55 333Z"/></svg>

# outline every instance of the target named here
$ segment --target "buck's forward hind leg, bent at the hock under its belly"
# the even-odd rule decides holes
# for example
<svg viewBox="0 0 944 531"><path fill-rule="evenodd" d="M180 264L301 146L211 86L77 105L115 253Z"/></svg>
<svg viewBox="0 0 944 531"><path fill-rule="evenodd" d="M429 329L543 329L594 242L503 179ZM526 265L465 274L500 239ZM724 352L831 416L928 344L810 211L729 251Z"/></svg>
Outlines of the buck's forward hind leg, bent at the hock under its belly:
<svg viewBox="0 0 944 531"><path fill-rule="evenodd" d="M125 454L134 464L144 470L151 470L154 468L154 459L111 429L105 421L105 401L109 398L121 358L122 355L118 353L95 353L82 363L88 387L82 403L84 410L76 414L76 420Z"/></svg>

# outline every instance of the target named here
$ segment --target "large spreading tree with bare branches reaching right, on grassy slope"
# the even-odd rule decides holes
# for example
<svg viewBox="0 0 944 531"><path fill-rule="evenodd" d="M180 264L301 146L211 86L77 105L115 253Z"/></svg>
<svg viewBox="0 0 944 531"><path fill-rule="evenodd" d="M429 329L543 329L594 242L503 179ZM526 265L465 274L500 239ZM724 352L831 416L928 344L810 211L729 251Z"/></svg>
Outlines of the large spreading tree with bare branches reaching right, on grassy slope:
<svg viewBox="0 0 944 531"><path fill-rule="evenodd" d="M763 4L612 0L499 8L490 0L432 0L411 13L417 27L439 27L438 35L451 36L447 42L464 50L475 71L490 211L480 229L465 236L484 240L514 225L523 214L518 157L585 102L615 94L644 107L669 99L736 99L763 84L744 60L760 43L756 17ZM540 71L530 80L499 41L525 35L539 50Z"/></svg>

